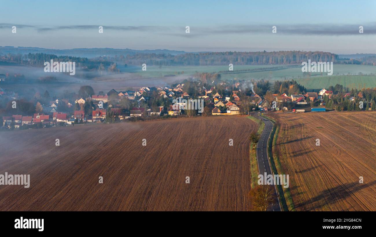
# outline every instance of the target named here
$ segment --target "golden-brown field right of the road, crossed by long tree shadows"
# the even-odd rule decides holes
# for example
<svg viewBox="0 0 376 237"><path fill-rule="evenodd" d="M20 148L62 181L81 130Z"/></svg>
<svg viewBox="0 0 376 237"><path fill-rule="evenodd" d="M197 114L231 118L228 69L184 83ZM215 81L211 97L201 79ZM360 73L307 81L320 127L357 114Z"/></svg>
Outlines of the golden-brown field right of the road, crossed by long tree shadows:
<svg viewBox="0 0 376 237"><path fill-rule="evenodd" d="M376 211L376 112L273 116L296 210Z"/></svg>

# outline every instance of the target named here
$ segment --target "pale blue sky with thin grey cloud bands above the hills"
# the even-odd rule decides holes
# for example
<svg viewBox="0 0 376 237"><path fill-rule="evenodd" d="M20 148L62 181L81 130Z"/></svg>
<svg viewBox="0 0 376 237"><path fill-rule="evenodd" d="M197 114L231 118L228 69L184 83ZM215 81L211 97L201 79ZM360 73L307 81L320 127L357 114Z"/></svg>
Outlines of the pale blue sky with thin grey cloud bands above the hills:
<svg viewBox="0 0 376 237"><path fill-rule="evenodd" d="M0 5L1 46L376 53L376 1L371 0L2 0Z"/></svg>

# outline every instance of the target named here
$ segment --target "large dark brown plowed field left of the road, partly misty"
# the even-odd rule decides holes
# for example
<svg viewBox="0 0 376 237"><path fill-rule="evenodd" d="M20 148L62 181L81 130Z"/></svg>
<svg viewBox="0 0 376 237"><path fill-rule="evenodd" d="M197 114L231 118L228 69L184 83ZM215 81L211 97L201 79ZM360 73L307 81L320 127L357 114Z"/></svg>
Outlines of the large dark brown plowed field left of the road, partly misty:
<svg viewBox="0 0 376 237"><path fill-rule="evenodd" d="M4 132L0 174L31 181L1 185L0 210L244 211L257 126L212 116Z"/></svg>

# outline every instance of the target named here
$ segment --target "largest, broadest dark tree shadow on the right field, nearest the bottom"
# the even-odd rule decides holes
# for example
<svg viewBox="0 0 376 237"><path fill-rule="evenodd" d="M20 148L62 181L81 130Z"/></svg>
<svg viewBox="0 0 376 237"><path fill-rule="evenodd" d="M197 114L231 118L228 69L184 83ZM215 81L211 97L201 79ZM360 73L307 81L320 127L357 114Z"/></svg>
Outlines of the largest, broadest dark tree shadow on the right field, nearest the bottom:
<svg viewBox="0 0 376 237"><path fill-rule="evenodd" d="M320 194L318 194L314 198L311 198L310 200L305 201L305 202L297 203L295 206L296 208L303 208L304 210L307 210L307 211L317 210L318 208L321 208L323 206L327 206L335 202L338 202L342 199L346 199L352 196L354 193L358 192L359 190L364 189L369 186L374 186L375 184L376 184L376 181L372 181L367 184L366 183L360 184L359 182L354 182L354 183L347 183L347 184L339 185L337 187L323 190L322 192L320 192ZM343 208L345 209L347 207L343 207Z"/></svg>

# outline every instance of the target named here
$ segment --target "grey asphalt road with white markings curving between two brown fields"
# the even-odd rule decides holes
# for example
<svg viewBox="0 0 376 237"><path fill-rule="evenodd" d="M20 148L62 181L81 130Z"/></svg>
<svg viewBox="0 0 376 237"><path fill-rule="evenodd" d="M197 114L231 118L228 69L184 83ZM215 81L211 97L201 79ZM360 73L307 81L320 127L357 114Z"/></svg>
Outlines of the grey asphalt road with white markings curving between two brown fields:
<svg viewBox="0 0 376 237"><path fill-rule="evenodd" d="M269 174L273 175L273 172L271 171L271 167L270 167L270 161L268 158L268 152L267 152L268 139L270 137L271 130L273 129L273 123L269 120L264 121L265 118L261 116L257 116L257 115L255 116L256 118L263 121L265 124L264 130L262 130L260 139L257 143L257 150L256 150L259 174L264 175L266 172L267 175ZM281 208L280 208L279 199L277 195L277 189L275 185L273 186L274 186L273 189L275 192L276 199L274 200L274 204L271 204L268 207L268 211L280 211Z"/></svg>

